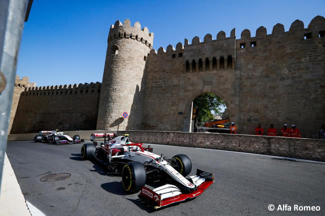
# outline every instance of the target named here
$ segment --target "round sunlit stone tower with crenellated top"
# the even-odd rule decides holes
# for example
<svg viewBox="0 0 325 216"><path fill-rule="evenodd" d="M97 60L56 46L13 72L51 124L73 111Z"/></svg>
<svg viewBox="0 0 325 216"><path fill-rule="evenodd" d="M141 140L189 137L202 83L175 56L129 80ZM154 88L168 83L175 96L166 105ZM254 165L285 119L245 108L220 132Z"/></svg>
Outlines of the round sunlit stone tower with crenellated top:
<svg viewBox="0 0 325 216"><path fill-rule="evenodd" d="M152 48L153 33L117 20L110 26L104 73L100 90L97 130L139 129L142 121L144 67Z"/></svg>

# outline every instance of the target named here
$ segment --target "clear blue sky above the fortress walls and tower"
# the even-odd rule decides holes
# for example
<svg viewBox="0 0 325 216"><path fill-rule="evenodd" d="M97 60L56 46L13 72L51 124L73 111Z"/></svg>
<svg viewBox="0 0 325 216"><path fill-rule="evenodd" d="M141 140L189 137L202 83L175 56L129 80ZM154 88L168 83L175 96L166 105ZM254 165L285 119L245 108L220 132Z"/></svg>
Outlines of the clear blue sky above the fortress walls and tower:
<svg viewBox="0 0 325 216"><path fill-rule="evenodd" d="M174 47L194 36L201 40L223 30L236 36L259 26L271 33L282 23L287 31L295 19L307 27L325 16L325 0L34 0L25 22L17 75L37 86L101 82L110 24L125 18L154 33L153 48Z"/></svg>

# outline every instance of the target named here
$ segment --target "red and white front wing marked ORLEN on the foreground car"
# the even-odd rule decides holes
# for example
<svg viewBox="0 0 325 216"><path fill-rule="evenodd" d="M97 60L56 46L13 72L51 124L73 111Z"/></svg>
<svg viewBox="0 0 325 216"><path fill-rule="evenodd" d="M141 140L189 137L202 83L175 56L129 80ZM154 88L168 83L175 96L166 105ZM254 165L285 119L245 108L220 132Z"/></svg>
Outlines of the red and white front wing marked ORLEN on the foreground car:
<svg viewBox="0 0 325 216"><path fill-rule="evenodd" d="M197 170L196 175L190 176L188 180L196 186L196 190L184 193L177 186L169 184L153 190L141 187L139 198L153 204L154 209L165 207L173 203L183 202L201 195L214 182L214 175Z"/></svg>

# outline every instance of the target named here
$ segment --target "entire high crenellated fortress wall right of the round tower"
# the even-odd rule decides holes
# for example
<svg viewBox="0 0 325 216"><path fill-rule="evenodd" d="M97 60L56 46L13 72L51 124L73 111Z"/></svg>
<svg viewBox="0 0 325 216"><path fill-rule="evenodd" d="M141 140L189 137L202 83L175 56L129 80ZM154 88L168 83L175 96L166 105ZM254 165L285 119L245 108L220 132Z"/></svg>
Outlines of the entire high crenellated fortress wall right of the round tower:
<svg viewBox="0 0 325 216"><path fill-rule="evenodd" d="M215 58L214 58L215 57ZM150 51L146 65L144 130L188 131L190 104L211 92L224 100L239 133L253 134L261 123L295 124L303 137L318 137L325 123L325 19L314 17L304 28L295 20L289 31L261 26L240 39L220 31L213 40L198 37ZM179 115L178 113L181 113Z"/></svg>

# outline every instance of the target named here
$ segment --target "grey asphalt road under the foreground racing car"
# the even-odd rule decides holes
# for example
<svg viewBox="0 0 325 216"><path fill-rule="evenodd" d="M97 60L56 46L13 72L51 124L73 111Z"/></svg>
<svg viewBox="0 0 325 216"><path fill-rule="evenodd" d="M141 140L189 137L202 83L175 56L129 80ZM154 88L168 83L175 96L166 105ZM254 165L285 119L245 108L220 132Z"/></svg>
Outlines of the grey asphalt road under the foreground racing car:
<svg viewBox="0 0 325 216"><path fill-rule="evenodd" d="M7 156L25 199L47 216L324 216L325 165L277 157L152 145L167 158L187 155L196 168L215 174L215 182L189 202L154 211L138 194L127 195L120 177L107 176L95 162L81 161L81 144L8 142ZM40 182L53 173L70 173L58 182ZM268 205L275 210L268 211ZM278 205L291 211L276 211ZM319 206L297 212L293 205ZM284 208L282 208L284 210ZM286 209L288 210L288 208Z"/></svg>

